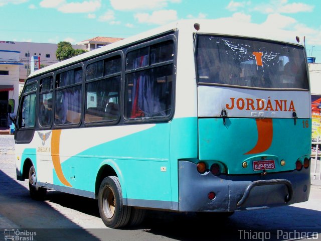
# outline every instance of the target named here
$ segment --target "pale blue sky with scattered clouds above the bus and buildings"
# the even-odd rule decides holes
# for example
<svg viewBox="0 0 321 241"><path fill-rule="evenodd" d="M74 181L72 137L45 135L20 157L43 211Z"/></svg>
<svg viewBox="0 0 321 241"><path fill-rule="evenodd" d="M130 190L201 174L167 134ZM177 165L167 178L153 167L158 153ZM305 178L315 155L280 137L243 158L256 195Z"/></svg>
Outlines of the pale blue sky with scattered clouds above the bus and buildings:
<svg viewBox="0 0 321 241"><path fill-rule="evenodd" d="M305 36L307 55L321 63L320 0L0 0L0 40L76 44L191 18L222 24L228 18Z"/></svg>

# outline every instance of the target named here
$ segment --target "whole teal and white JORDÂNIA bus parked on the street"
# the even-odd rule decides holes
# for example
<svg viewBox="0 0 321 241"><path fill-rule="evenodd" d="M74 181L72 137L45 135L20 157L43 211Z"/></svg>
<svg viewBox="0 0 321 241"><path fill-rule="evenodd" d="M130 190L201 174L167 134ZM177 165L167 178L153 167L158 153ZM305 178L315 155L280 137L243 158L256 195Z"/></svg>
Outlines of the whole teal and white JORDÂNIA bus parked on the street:
<svg viewBox="0 0 321 241"><path fill-rule="evenodd" d="M304 44L242 31L180 21L32 73L17 179L33 198L98 199L114 228L146 209L229 215L308 200Z"/></svg>

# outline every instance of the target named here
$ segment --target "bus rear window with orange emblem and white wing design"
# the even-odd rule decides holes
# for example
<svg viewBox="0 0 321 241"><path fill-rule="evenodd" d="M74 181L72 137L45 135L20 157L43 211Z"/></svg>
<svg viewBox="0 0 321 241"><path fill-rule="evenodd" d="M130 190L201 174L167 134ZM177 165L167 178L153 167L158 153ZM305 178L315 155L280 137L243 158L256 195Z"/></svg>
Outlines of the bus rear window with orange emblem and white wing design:
<svg viewBox="0 0 321 241"><path fill-rule="evenodd" d="M257 39L198 35L198 83L308 89L304 48Z"/></svg>

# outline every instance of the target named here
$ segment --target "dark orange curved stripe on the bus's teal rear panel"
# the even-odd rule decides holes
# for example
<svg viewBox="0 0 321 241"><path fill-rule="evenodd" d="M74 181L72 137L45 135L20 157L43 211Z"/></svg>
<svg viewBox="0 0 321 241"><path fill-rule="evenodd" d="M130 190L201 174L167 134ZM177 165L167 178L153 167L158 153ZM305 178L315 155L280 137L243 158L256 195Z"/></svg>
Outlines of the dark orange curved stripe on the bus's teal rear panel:
<svg viewBox="0 0 321 241"><path fill-rule="evenodd" d="M255 147L245 153L247 154L257 154L261 152L265 152L270 148L273 139L273 124L272 119L255 119L257 126L257 143Z"/></svg>

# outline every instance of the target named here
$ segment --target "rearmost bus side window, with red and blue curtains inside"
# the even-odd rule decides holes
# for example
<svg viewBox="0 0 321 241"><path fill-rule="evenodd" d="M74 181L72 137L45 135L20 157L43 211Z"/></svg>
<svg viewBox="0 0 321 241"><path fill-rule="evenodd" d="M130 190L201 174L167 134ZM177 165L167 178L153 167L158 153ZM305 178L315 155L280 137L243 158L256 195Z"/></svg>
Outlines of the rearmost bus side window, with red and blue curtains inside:
<svg viewBox="0 0 321 241"><path fill-rule="evenodd" d="M170 115L173 62L174 42L172 40L134 50L127 54L127 70L131 71L125 75L126 118ZM154 64L157 66L140 69Z"/></svg>

